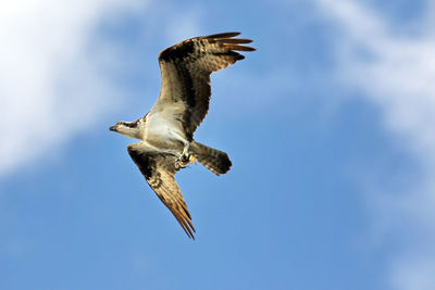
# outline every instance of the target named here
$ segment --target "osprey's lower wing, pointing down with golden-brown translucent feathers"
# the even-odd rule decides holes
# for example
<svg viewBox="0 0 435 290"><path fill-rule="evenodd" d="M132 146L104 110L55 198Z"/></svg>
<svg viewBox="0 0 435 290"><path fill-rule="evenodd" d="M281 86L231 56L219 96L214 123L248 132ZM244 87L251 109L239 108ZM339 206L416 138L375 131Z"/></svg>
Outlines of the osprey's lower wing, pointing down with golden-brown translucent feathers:
<svg viewBox="0 0 435 290"><path fill-rule="evenodd" d="M128 154L144 174L148 185L154 190L159 199L172 212L189 238L195 240L195 227L187 210L186 202L175 182L175 160L170 153L156 151L144 142L127 147Z"/></svg>

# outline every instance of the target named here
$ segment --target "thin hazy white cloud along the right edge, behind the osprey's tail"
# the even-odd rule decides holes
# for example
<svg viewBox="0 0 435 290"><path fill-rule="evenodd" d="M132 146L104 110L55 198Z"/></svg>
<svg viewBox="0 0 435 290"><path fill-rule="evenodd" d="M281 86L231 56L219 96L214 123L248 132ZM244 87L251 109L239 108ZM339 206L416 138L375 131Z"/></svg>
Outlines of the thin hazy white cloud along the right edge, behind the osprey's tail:
<svg viewBox="0 0 435 290"><path fill-rule="evenodd" d="M391 287L435 289L435 5L427 3L418 23L420 30L410 34L358 1L314 2L339 27L336 56L343 84L359 88L382 110L385 128L420 162L415 188L376 200L382 209L377 217L401 229L398 239L413 236L391 262Z"/></svg>

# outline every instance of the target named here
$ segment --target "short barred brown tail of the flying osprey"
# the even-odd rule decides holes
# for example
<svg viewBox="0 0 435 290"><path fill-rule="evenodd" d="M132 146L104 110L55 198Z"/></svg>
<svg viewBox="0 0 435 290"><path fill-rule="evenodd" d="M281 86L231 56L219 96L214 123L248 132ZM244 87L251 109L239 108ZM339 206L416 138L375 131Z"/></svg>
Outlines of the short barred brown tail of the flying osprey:
<svg viewBox="0 0 435 290"><path fill-rule="evenodd" d="M190 143L190 151L194 152L199 163L217 176L227 173L233 165L225 152L207 147L200 142L192 141Z"/></svg>

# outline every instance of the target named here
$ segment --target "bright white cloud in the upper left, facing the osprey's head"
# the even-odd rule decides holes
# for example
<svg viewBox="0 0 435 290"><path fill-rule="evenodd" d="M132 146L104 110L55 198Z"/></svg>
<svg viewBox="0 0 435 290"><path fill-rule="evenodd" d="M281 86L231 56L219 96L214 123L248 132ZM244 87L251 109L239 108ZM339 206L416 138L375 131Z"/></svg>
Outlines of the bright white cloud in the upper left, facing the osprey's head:
<svg viewBox="0 0 435 290"><path fill-rule="evenodd" d="M2 4L0 176L47 153L113 106L116 88L89 46L116 62L111 48L94 39L95 28L110 13L145 3L25 0Z"/></svg>

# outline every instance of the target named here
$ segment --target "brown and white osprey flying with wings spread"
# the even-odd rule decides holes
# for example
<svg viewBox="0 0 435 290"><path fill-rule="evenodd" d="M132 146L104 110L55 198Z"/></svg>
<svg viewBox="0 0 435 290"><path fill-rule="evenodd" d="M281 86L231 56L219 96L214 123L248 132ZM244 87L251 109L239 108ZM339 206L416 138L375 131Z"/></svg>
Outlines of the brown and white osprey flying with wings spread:
<svg viewBox="0 0 435 290"><path fill-rule="evenodd" d="M195 227L175 173L199 161L215 175L229 171L225 152L194 140L194 133L209 110L210 74L245 59L236 51L256 49L234 38L240 33L195 37L159 54L162 87L156 104L135 122L119 122L110 130L140 142L127 147L128 154L149 186L178 220L189 238Z"/></svg>

